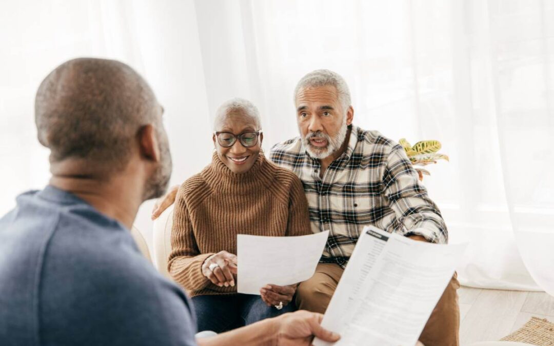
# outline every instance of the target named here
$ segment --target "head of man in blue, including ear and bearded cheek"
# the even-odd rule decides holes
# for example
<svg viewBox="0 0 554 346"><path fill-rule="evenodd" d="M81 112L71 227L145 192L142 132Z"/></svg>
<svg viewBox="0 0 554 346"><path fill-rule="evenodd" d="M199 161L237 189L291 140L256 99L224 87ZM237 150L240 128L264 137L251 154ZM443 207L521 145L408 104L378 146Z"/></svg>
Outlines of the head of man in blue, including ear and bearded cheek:
<svg viewBox="0 0 554 346"><path fill-rule="evenodd" d="M50 149L53 175L107 181L139 174L142 200L160 197L171 176L161 119L150 86L115 60L66 61L43 80L35 101L38 140Z"/></svg>

